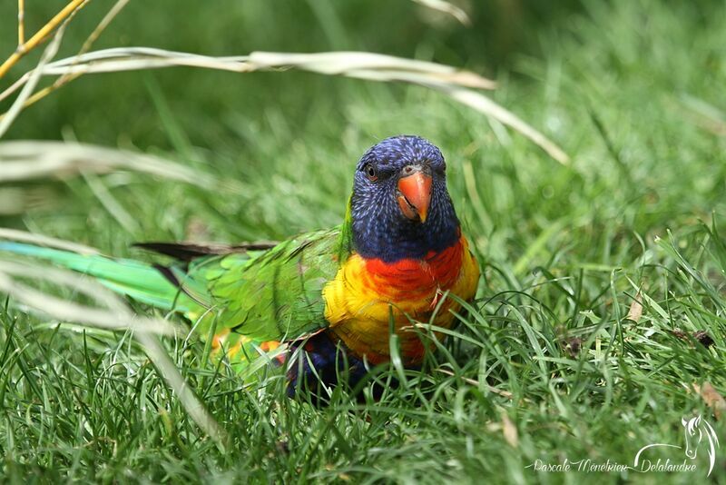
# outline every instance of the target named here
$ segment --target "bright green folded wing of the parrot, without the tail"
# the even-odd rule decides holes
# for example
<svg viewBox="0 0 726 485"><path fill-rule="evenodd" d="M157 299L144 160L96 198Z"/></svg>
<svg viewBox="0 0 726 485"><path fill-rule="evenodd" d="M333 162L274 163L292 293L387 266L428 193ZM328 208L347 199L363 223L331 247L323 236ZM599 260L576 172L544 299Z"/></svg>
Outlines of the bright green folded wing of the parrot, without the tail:
<svg viewBox="0 0 726 485"><path fill-rule="evenodd" d="M323 287L338 271L338 229L301 234L264 252L240 252L172 268L200 331L290 341L326 328ZM187 302L188 304L188 302ZM194 308L196 307L196 308Z"/></svg>

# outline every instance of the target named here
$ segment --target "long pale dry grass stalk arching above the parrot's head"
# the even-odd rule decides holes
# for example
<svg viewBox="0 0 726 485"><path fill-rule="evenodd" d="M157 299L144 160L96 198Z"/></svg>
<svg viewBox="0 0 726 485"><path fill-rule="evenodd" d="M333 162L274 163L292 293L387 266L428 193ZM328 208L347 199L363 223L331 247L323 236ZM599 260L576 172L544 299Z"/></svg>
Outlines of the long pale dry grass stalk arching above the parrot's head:
<svg viewBox="0 0 726 485"><path fill-rule="evenodd" d="M378 82L419 84L446 94L458 103L486 114L525 135L560 163L569 157L544 134L499 104L469 88L494 89L495 83L469 71L449 65L365 52L289 54L254 52L246 56L212 57L148 47L103 49L46 64L43 75L82 74L192 66L237 73L296 68L319 74L344 75ZM28 82L31 73L0 94L0 101ZM41 96L42 97L42 96ZM40 99L40 98L38 98Z"/></svg>

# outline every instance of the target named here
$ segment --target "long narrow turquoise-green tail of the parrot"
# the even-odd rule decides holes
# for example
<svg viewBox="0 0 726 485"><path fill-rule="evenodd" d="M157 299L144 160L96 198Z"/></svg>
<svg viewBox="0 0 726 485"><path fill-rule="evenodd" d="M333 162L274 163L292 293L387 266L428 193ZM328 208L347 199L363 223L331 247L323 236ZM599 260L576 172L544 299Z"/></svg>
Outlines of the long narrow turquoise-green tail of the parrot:
<svg viewBox="0 0 726 485"><path fill-rule="evenodd" d="M9 241L0 241L0 252L30 256L89 274L114 292L163 310L191 310L184 308L188 299L180 298L179 288L152 264Z"/></svg>

